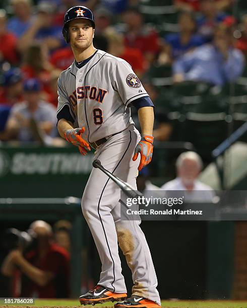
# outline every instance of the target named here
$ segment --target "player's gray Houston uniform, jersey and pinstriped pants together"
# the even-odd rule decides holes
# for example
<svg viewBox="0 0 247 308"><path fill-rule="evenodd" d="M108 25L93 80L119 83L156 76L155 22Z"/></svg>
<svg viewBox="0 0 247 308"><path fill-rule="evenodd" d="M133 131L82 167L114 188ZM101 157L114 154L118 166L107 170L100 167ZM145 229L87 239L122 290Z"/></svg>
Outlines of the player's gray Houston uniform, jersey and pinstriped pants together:
<svg viewBox="0 0 247 308"><path fill-rule="evenodd" d="M84 139L94 142L115 134L97 147L95 159L136 188L140 157L133 162L141 139L131 119L130 103L147 92L131 66L104 51L82 68L75 62L58 79L58 112L68 105L74 126L85 127ZM78 124L77 124L78 121ZM157 278L140 221L120 219L120 189L101 170L93 168L82 197L82 211L92 232L102 271L99 285L125 293L118 243L132 270L133 295L160 304Z"/></svg>

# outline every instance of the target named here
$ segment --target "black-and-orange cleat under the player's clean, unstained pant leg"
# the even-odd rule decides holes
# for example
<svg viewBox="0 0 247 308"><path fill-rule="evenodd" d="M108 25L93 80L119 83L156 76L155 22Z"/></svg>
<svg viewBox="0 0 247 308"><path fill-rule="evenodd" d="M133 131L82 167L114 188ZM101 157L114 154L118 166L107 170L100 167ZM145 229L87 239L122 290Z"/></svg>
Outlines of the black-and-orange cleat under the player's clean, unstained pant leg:
<svg viewBox="0 0 247 308"><path fill-rule="evenodd" d="M117 301L127 298L127 293L112 293L107 288L97 285L93 290L79 297L81 305L95 305L106 301Z"/></svg>

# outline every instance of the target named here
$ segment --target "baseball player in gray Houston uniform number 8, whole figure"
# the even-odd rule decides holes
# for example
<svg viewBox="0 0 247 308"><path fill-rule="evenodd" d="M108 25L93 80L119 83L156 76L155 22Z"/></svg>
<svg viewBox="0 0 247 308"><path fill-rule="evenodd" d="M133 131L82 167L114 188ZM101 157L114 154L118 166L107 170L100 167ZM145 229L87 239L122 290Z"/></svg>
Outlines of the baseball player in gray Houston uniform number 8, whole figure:
<svg viewBox="0 0 247 308"><path fill-rule="evenodd" d="M63 34L75 61L61 72L57 128L82 155L95 149L95 159L136 188L137 170L153 152L153 103L129 63L93 46L93 13L76 6L65 14ZM141 135L131 118L138 109ZM141 221L121 221L120 189L93 168L82 197L82 211L93 235L102 271L97 286L80 296L81 304L118 302L115 307L160 307L157 278ZM118 245L132 270L134 286L127 298ZM121 301L122 300L122 301Z"/></svg>

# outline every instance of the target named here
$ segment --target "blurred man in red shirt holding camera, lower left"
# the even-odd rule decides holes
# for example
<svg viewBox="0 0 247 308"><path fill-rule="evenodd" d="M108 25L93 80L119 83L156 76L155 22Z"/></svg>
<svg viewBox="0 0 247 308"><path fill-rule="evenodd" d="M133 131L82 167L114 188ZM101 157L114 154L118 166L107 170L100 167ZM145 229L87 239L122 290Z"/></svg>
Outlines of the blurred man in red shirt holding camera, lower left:
<svg viewBox="0 0 247 308"><path fill-rule="evenodd" d="M1 272L13 276L16 267L23 274L23 297L69 297L69 253L52 241L51 226L36 220L30 232L37 237L37 245L29 252L12 250L5 258Z"/></svg>

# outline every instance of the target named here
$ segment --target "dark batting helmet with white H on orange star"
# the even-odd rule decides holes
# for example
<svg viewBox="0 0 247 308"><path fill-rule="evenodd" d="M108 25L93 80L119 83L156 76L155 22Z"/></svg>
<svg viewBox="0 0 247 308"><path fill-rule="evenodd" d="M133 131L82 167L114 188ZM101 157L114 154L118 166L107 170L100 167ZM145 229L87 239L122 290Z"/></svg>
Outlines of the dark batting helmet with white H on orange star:
<svg viewBox="0 0 247 308"><path fill-rule="evenodd" d="M70 8L65 13L64 28L63 28L63 35L67 43L70 42L69 22L77 18L84 18L84 19L90 20L93 28L95 28L94 16L91 10L83 6L76 6L76 7Z"/></svg>

